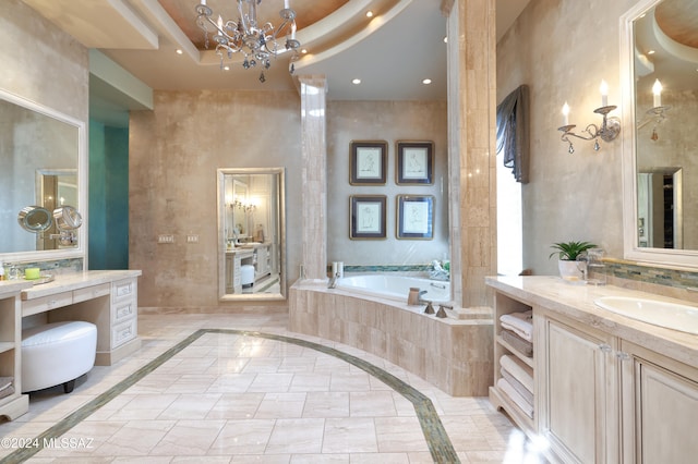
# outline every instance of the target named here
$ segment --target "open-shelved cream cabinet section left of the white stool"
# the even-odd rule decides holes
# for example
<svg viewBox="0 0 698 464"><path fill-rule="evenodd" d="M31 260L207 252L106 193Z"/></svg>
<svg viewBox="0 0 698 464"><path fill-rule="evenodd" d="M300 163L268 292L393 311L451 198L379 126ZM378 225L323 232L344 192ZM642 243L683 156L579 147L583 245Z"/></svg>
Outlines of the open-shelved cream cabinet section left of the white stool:
<svg viewBox="0 0 698 464"><path fill-rule="evenodd" d="M28 282L0 282L0 377L12 379L12 393L0 398L0 417L12 420L26 413L29 396L22 394L22 304L20 293ZM3 386L0 386L3 387ZM10 391L10 390L7 390Z"/></svg>

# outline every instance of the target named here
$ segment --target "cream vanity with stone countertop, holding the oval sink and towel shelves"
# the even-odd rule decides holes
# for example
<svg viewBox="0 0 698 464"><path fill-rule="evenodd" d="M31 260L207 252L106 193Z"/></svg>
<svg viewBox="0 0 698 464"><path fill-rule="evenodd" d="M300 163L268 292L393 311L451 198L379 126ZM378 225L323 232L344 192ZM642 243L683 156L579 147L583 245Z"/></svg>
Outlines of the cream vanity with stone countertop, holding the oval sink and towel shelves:
<svg viewBox="0 0 698 464"><path fill-rule="evenodd" d="M533 417L497 388L498 366L490 399L530 437L544 438L553 462L695 462L698 337L593 303L606 295L664 298L554 277L489 278L488 284L495 290L497 333L501 315L533 310ZM498 337L494 350L495 363L516 355Z"/></svg>

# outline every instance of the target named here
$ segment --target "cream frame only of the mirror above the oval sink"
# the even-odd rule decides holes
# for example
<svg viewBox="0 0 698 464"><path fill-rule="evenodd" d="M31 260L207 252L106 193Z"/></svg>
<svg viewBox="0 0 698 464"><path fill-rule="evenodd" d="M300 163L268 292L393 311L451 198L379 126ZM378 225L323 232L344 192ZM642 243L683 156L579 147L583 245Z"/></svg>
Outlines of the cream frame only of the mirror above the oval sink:
<svg viewBox="0 0 698 464"><path fill-rule="evenodd" d="M637 216L637 120L635 115L635 39L634 21L657 7L662 0L640 0L621 16L621 87L623 89L623 256L625 259L698 268L698 251L645 248L638 242Z"/></svg>

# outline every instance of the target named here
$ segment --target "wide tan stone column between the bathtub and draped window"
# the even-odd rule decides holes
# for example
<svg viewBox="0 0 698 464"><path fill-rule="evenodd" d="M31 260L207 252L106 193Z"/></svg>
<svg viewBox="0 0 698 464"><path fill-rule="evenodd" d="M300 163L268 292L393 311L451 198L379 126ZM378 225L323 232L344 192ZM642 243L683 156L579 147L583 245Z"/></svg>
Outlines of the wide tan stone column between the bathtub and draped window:
<svg viewBox="0 0 698 464"><path fill-rule="evenodd" d="M454 298L492 306L496 273L496 0L443 0L448 16L448 170Z"/></svg>

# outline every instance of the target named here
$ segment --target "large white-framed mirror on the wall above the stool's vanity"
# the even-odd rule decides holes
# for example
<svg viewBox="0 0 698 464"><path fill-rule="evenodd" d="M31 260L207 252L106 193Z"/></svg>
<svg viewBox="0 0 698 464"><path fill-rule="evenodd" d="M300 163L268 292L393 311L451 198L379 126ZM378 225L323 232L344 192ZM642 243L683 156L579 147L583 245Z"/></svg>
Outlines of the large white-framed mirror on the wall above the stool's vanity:
<svg viewBox="0 0 698 464"><path fill-rule="evenodd" d="M82 257L86 228L61 240L55 212L85 215L85 124L0 90L0 258ZM41 221L46 218L46 221Z"/></svg>

